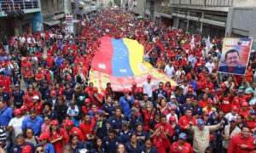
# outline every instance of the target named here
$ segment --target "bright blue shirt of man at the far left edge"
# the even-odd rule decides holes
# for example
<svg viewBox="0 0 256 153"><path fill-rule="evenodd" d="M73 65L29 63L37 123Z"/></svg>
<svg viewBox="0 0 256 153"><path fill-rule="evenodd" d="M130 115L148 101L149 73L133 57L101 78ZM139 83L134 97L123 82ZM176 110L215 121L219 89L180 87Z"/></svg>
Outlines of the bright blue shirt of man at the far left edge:
<svg viewBox="0 0 256 153"><path fill-rule="evenodd" d="M0 125L8 126L9 121L13 118L13 110L7 106L0 110Z"/></svg>

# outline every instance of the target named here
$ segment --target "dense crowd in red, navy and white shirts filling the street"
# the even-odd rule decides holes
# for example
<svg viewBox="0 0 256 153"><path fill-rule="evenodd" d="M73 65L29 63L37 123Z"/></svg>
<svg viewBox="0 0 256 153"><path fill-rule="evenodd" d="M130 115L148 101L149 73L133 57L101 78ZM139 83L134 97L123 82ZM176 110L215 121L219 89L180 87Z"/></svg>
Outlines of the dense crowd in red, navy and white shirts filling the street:
<svg viewBox="0 0 256 153"><path fill-rule="evenodd" d="M159 82L155 88L148 76L143 84L132 82L121 97L110 82L104 91L94 87L90 62L105 36L143 44L143 59L178 86ZM80 20L75 36L60 27L4 37L0 149L11 153L255 152L255 54L250 55L245 75L218 73L222 40L137 20L121 9L98 10L95 20Z"/></svg>

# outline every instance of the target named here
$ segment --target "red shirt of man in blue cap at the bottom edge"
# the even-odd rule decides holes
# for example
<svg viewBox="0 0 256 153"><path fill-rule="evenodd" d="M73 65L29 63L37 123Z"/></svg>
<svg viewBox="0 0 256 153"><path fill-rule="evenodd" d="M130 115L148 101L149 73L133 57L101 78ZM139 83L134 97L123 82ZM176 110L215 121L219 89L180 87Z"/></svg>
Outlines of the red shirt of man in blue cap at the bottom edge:
<svg viewBox="0 0 256 153"><path fill-rule="evenodd" d="M193 148L187 142L184 142L183 148L179 148L179 142L172 143L170 147L170 153L194 153Z"/></svg>

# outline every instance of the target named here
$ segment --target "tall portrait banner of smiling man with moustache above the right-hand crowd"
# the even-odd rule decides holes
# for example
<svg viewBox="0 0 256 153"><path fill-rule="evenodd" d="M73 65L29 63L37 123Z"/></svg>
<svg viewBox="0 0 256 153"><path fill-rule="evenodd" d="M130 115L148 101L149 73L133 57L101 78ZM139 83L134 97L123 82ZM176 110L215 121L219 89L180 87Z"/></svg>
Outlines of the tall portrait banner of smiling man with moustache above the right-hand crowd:
<svg viewBox="0 0 256 153"><path fill-rule="evenodd" d="M253 38L224 38L218 72L244 75L252 44Z"/></svg>

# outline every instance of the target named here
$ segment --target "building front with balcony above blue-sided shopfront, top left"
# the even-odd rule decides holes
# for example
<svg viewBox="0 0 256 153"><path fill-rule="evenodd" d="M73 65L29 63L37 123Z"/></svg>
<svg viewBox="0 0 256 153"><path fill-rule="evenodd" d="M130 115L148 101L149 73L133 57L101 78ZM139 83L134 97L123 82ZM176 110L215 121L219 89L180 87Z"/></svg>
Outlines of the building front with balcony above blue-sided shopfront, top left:
<svg viewBox="0 0 256 153"><path fill-rule="evenodd" d="M26 2L11 0L0 2L0 39L21 33L33 33L43 30L40 1Z"/></svg>

